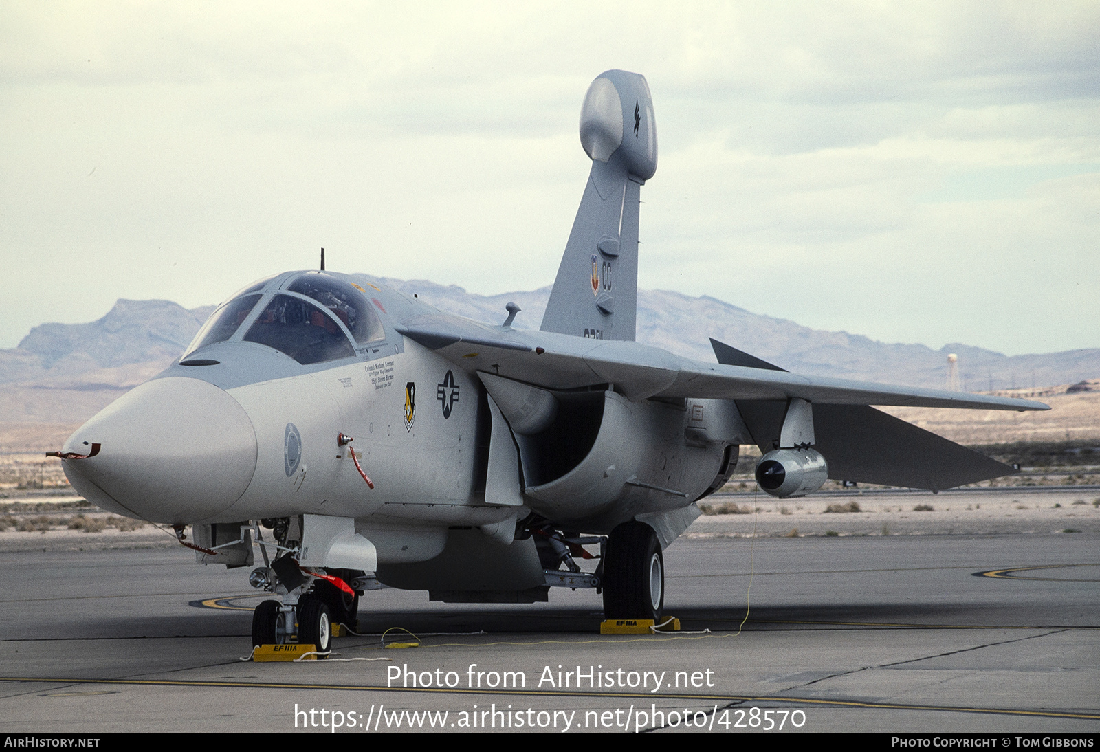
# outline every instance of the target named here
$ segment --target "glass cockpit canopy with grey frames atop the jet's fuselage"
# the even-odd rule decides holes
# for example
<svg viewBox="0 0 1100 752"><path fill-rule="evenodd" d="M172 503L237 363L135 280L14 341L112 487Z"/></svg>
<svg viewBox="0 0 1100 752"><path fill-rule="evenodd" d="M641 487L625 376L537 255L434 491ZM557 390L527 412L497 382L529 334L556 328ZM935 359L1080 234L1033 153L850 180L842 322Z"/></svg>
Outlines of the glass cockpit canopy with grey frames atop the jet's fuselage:
<svg viewBox="0 0 1100 752"><path fill-rule="evenodd" d="M184 355L216 342L274 347L302 365L355 355L356 345L385 339L362 288L324 272L268 277L222 303Z"/></svg>

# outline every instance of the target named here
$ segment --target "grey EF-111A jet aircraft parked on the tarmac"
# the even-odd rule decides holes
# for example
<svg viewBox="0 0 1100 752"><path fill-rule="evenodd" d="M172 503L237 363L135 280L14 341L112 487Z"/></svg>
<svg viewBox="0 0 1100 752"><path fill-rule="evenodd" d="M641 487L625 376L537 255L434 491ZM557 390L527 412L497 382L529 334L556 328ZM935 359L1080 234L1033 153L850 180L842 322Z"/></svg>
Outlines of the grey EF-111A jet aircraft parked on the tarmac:
<svg viewBox="0 0 1100 752"><path fill-rule="evenodd" d="M935 490L1011 472L870 406L1045 405L636 342L639 191L657 172L646 79L601 74L580 131L592 172L538 331L513 328L512 303L487 325L362 275L268 277L68 439L74 488L180 540L194 526L200 562L252 566L258 542L251 582L278 598L256 608L253 642L324 651L381 585L450 602L595 587L606 618L658 619L661 552L743 444L780 498L826 478ZM585 545L594 573L574 561Z"/></svg>

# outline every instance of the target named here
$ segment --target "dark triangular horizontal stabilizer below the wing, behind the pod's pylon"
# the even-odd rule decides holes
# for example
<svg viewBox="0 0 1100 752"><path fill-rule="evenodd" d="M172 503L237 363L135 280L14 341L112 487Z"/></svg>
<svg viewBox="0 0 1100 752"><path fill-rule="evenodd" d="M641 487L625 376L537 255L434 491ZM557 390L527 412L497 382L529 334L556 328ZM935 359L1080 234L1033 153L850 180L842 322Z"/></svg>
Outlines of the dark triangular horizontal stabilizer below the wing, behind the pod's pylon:
<svg viewBox="0 0 1100 752"><path fill-rule="evenodd" d="M931 431L862 405L814 405L816 449L834 480L943 490L1011 475L990 460ZM785 402L738 400L737 408L763 453L773 449Z"/></svg>

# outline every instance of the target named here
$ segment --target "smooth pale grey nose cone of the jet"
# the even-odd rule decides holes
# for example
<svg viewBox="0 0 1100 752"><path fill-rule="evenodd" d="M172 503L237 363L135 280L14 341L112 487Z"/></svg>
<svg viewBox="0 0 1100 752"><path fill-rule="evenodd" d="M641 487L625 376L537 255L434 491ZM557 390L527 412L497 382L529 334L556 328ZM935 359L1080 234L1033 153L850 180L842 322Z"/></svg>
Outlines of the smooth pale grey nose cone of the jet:
<svg viewBox="0 0 1100 752"><path fill-rule="evenodd" d="M108 406L65 442L73 487L105 509L154 522L212 517L237 501L256 469L249 414L195 378L148 381Z"/></svg>

